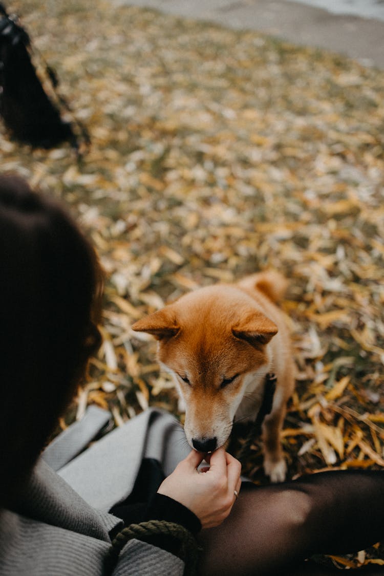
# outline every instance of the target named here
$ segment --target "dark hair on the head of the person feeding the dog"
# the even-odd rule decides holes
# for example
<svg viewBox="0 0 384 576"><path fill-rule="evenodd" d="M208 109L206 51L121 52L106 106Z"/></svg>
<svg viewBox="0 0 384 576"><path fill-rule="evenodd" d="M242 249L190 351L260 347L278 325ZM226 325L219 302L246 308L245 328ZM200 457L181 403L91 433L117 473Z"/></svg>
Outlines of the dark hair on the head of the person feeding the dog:
<svg viewBox="0 0 384 576"><path fill-rule="evenodd" d="M0 504L9 502L74 396L90 355L102 275L56 202L0 176Z"/></svg>

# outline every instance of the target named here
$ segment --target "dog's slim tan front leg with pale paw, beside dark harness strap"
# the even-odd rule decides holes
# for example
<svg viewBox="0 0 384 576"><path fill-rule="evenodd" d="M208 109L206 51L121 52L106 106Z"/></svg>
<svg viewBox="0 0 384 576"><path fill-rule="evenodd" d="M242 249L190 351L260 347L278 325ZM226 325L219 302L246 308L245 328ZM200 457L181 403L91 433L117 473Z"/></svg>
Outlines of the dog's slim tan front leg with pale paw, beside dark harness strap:
<svg viewBox="0 0 384 576"><path fill-rule="evenodd" d="M283 482L286 478L287 464L283 457L280 432L286 415L287 399L284 389L277 381L273 396L271 413L265 416L263 422L264 472L271 482Z"/></svg>

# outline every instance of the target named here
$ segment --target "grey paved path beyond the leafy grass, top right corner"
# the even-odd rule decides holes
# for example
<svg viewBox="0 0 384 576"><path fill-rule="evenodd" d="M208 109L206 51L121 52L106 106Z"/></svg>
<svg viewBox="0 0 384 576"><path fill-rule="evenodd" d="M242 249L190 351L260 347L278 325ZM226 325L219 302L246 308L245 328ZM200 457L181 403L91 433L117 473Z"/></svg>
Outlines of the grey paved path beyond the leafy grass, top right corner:
<svg viewBox="0 0 384 576"><path fill-rule="evenodd" d="M334 14L287 0L113 0L161 12L254 29L318 46L384 69L384 21Z"/></svg>

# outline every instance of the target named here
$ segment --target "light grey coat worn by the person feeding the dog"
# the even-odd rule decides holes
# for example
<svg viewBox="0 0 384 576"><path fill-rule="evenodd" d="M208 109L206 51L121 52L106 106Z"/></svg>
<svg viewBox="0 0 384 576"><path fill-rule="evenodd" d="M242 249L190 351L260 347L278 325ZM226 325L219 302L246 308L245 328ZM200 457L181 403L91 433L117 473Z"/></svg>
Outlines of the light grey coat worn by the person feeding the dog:
<svg viewBox="0 0 384 576"><path fill-rule="evenodd" d="M100 427L105 421L105 411L94 408L86 418L88 430L85 419L48 446L17 505L0 511L2 576L105 574L103 561L111 547L108 531L122 527L108 510L132 491L142 458L157 458L168 475L190 450L176 419L150 409L71 459L96 432L92 422L98 420ZM113 576L176 576L183 570L176 556L131 540Z"/></svg>

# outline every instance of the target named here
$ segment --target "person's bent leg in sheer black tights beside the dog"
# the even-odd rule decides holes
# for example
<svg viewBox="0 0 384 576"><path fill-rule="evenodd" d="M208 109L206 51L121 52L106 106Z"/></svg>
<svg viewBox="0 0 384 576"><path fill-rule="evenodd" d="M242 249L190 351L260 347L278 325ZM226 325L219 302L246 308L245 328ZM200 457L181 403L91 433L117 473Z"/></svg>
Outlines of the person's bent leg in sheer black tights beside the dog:
<svg viewBox="0 0 384 576"><path fill-rule="evenodd" d="M225 522L201 532L204 576L333 574L303 560L358 552L384 536L384 472L332 471L271 486L246 484ZM384 574L384 568L363 574Z"/></svg>

